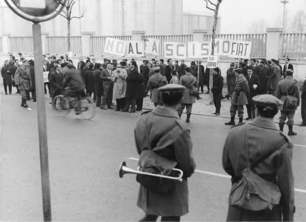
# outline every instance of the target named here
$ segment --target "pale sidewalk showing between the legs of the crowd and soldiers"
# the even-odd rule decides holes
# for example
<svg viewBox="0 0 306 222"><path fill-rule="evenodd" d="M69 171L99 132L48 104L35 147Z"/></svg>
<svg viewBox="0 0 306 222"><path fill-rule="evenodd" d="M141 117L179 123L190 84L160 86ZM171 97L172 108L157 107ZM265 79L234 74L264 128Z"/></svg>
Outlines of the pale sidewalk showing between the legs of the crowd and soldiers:
<svg viewBox="0 0 306 222"><path fill-rule="evenodd" d="M4 88L3 84L0 84L0 92L2 96L12 96L12 95L17 95L20 96L19 94L15 94L16 88L13 87L12 90L12 95L5 95L4 94ZM223 92L225 94L225 92ZM192 115L203 115L203 116L214 116L216 118L230 118L230 107L231 107L231 102L228 101L226 98L221 101L221 110L220 110L220 116L215 116L215 106L210 106L209 105L209 94L202 93L200 94L200 97L202 97L200 100L196 100L195 104L192 106ZM47 99L50 99L49 97L46 97ZM113 101L116 103L115 101ZM154 104L151 103L150 97L147 96L143 98L143 109L148 109L152 110L154 109ZM186 112L186 110L184 111ZM278 122L278 117L280 115L280 112L278 112L275 117L274 117L274 122ZM247 117L247 111L246 107L244 106L244 119ZM238 116L236 115L236 119L238 119ZM227 120L224 120L227 121ZM301 118L301 109L300 107L297 108L295 115L294 115L294 125L299 125L302 122Z"/></svg>

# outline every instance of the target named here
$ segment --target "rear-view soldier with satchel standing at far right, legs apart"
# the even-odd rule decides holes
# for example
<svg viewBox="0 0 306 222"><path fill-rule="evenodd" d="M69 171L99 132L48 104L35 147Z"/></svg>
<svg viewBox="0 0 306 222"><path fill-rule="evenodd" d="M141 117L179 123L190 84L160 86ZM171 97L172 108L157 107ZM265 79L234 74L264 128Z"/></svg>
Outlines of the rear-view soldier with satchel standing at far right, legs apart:
<svg viewBox="0 0 306 222"><path fill-rule="evenodd" d="M282 100L284 103L283 108L281 109L281 116L279 116L279 123L278 123L279 130L283 132L286 119L288 118L287 125L289 128L288 132L289 136L294 136L297 134L293 132L293 124L294 124L293 118L297 107L288 107L285 101L288 100L287 97L289 95L296 97L297 106L299 106L300 103L298 83L295 79L293 79L292 75L293 75L293 70L287 69L286 78L282 81L279 81L276 90L276 97Z"/></svg>

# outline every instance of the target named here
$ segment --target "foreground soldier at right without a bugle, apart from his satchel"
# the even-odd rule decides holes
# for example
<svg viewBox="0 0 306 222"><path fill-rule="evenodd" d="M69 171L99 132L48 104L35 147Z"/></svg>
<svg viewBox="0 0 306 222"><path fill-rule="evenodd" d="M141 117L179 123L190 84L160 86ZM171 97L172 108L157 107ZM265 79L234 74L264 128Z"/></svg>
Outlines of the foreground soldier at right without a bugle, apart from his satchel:
<svg viewBox="0 0 306 222"><path fill-rule="evenodd" d="M289 137L277 130L273 122L283 102L270 94L256 95L252 100L256 102L258 116L248 124L233 127L228 133L222 165L232 176L232 186L235 187L246 168L247 147L252 171L278 186L281 201L272 210L261 211L244 210L230 204L226 221L293 221L293 144Z"/></svg>

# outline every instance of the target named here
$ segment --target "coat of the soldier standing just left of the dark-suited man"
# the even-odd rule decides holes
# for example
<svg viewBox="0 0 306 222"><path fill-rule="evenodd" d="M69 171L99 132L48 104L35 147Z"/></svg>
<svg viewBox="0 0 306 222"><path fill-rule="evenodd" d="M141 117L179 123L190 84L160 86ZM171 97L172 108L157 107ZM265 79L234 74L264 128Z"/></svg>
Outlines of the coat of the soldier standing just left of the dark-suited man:
<svg viewBox="0 0 306 222"><path fill-rule="evenodd" d="M246 105L248 104L247 98L249 97L248 82L243 75L237 78L235 83L235 89L232 94L232 105Z"/></svg>

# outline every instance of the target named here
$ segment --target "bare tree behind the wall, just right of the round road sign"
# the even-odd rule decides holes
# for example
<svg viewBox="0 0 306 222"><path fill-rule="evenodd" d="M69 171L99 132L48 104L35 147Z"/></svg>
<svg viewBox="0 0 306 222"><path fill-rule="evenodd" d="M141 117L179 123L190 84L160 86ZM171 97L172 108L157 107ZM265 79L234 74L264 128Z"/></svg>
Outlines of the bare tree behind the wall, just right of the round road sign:
<svg viewBox="0 0 306 222"><path fill-rule="evenodd" d="M61 4L64 5L64 9L63 11L61 11L60 15L63 16L66 20L67 20L67 43L68 43L68 52L71 51L71 42L70 42L70 21L73 18L82 18L84 17L84 13L87 10L91 0L88 2L87 6L85 7L85 9L83 10L82 14L80 13L79 16L73 16L72 15L72 9L74 4L77 2L78 0L68 0L68 1L63 1L61 0ZM81 0L79 0L81 1Z"/></svg>

